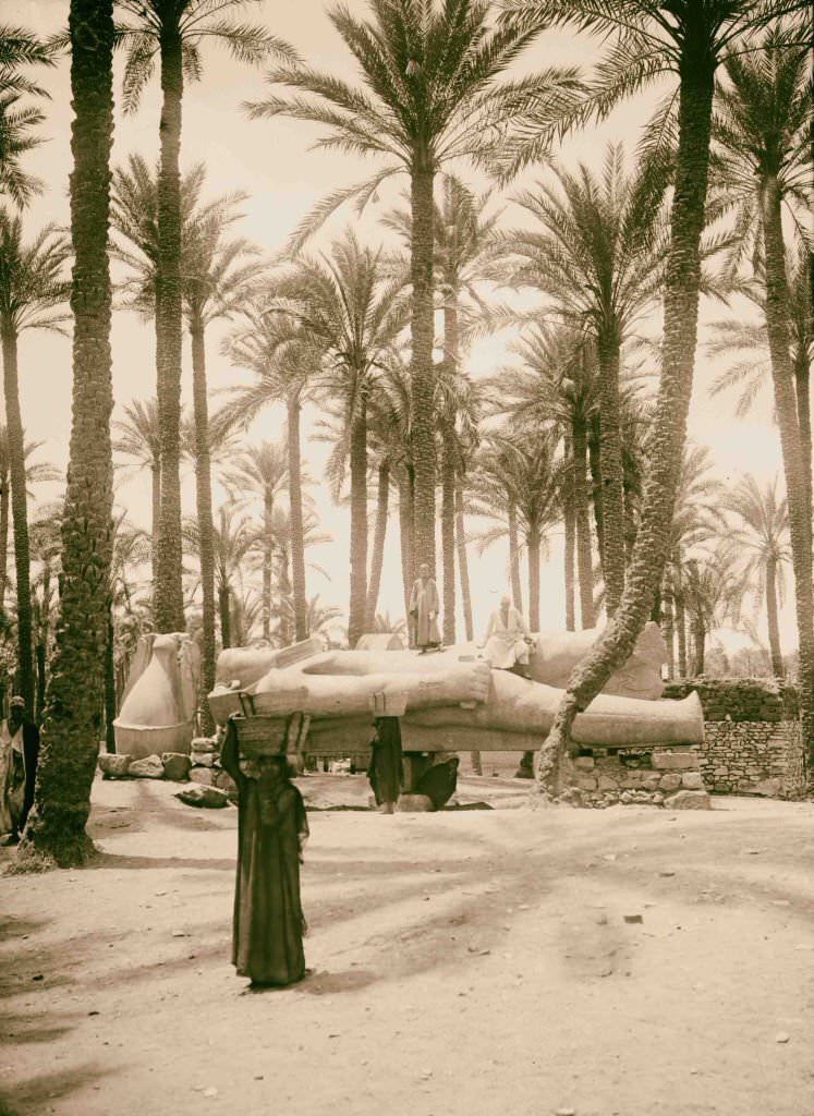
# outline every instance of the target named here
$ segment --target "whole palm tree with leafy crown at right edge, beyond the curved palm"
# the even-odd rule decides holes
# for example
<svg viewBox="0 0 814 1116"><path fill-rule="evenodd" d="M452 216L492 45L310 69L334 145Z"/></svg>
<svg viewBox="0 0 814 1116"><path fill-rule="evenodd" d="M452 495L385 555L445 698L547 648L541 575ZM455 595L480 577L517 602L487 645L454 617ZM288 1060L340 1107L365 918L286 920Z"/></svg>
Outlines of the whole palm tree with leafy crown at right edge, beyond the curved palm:
<svg viewBox="0 0 814 1116"><path fill-rule="evenodd" d="M763 256L762 308L783 451L795 580L801 718L806 753L814 761L810 404L799 395L802 389L807 396L808 376L804 373L801 379L795 377L783 229L784 205L797 201L807 210L812 201L811 80L808 50L783 47L783 33L774 30L758 54L741 57L732 52L726 59L728 80L718 89L712 136L737 206L736 228L745 233L744 242L757 239Z"/></svg>

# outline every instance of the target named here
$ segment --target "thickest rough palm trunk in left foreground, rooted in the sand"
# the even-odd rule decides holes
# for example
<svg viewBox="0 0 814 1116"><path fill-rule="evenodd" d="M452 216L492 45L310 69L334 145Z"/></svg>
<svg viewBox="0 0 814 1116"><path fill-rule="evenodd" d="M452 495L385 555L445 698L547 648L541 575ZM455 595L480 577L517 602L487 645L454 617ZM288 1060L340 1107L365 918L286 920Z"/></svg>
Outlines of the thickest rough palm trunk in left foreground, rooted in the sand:
<svg viewBox="0 0 814 1116"><path fill-rule="evenodd" d="M70 0L74 106L70 229L74 312L70 458L63 519L60 619L35 807L19 857L60 867L93 850L85 833L100 733L111 608L113 454L107 254L113 142L113 0Z"/></svg>

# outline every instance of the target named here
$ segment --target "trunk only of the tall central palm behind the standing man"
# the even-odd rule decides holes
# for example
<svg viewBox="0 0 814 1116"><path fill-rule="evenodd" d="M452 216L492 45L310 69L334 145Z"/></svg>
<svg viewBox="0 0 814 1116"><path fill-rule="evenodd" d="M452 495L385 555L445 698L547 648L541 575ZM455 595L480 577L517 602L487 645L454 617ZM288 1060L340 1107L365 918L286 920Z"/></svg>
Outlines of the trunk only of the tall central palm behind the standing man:
<svg viewBox="0 0 814 1116"><path fill-rule="evenodd" d="M415 566L427 562L435 577L435 422L432 347L432 260L434 247L433 170L429 152L416 152L410 176L412 219L410 283L412 287L410 393L412 453L415 475L414 541Z"/></svg>

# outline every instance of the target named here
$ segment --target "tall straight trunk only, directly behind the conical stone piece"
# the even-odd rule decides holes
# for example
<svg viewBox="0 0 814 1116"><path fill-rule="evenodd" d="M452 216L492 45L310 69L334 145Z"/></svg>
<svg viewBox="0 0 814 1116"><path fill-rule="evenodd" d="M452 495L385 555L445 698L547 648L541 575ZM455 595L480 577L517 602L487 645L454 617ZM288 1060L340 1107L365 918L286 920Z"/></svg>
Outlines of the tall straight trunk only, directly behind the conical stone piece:
<svg viewBox="0 0 814 1116"><path fill-rule="evenodd" d="M161 162L156 267L156 396L161 445L161 514L153 612L157 632L185 627L181 584L181 35L165 20L161 31Z"/></svg>

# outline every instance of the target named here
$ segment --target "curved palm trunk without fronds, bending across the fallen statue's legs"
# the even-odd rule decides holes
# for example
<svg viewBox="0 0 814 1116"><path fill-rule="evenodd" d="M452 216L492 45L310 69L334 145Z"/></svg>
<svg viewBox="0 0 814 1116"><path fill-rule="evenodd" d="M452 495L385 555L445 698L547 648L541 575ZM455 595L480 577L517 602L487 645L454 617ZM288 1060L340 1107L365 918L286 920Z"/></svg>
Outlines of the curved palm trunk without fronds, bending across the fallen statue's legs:
<svg viewBox="0 0 814 1116"><path fill-rule="evenodd" d="M588 655L576 667L540 753L538 777L555 795L571 728L630 657L648 618L668 555L676 492L687 437L687 415L698 339L700 240L709 171L709 135L716 59L701 4L688 9L679 60L678 152L664 276L662 371L635 549L622 603Z"/></svg>

